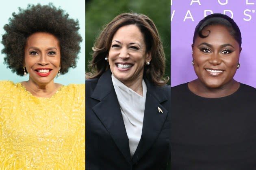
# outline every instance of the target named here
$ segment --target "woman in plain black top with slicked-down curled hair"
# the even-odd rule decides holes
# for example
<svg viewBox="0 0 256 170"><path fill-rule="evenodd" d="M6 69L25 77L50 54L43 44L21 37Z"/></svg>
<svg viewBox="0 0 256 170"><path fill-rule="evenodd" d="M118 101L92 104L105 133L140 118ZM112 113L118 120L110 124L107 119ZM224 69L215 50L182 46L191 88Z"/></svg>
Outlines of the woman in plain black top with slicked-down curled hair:
<svg viewBox="0 0 256 170"><path fill-rule="evenodd" d="M223 14L195 28L197 79L171 88L172 170L256 169L256 89L233 79L241 32Z"/></svg>

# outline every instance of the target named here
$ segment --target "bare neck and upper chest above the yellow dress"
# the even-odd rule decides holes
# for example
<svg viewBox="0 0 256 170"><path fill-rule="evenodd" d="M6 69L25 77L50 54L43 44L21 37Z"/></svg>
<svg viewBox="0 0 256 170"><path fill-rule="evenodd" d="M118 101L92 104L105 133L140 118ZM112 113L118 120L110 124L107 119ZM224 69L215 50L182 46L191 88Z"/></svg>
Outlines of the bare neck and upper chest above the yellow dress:
<svg viewBox="0 0 256 170"><path fill-rule="evenodd" d="M28 81L23 81L22 85L29 91L33 96L50 98L56 93L56 91L61 86L58 83L51 81L47 84L38 84L35 81L29 79Z"/></svg>

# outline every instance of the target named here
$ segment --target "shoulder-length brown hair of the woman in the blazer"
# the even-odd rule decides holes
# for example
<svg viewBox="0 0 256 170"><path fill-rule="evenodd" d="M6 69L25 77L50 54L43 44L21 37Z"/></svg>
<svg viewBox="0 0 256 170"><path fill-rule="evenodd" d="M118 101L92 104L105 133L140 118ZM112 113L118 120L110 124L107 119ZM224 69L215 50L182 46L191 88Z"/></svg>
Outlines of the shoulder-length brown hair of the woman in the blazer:
<svg viewBox="0 0 256 170"><path fill-rule="evenodd" d="M164 85L169 80L169 77L163 79L165 53L158 30L149 17L139 13L119 14L104 26L93 47L92 60L89 64L91 73L87 73L87 78L100 77L109 69L109 64L104 58L108 55L112 38L119 28L130 24L134 24L139 28L145 40L146 51L151 52L152 60L150 65L144 68L145 76L155 85Z"/></svg>

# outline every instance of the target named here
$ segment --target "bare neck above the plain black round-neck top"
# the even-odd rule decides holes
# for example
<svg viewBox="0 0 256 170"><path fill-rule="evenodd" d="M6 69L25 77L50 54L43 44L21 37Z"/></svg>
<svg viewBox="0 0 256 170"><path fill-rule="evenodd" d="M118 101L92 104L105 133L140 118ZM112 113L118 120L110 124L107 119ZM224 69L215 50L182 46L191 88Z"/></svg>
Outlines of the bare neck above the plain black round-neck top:
<svg viewBox="0 0 256 170"><path fill-rule="evenodd" d="M221 87L207 87L199 79L195 79L188 84L190 91L194 94L205 98L221 98L233 94L240 86L240 83L234 79Z"/></svg>

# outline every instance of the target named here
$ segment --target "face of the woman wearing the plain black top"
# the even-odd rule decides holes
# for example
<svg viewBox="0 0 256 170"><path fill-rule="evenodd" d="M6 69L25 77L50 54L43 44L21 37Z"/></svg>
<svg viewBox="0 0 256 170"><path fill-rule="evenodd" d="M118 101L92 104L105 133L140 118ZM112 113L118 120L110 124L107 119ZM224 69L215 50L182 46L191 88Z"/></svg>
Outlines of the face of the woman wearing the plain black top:
<svg viewBox="0 0 256 170"><path fill-rule="evenodd" d="M204 28L192 44L194 70L198 79L210 88L222 87L229 83L236 73L241 48L225 26L215 25Z"/></svg>

